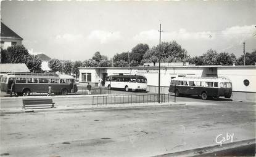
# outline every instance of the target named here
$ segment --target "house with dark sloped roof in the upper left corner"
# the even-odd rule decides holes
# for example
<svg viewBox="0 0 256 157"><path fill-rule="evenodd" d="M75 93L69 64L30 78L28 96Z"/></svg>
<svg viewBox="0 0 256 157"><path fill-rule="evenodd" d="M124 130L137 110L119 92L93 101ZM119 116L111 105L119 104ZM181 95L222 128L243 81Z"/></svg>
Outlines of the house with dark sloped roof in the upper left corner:
<svg viewBox="0 0 256 157"><path fill-rule="evenodd" d="M1 48L6 49L12 45L22 45L22 37L12 31L1 21Z"/></svg>

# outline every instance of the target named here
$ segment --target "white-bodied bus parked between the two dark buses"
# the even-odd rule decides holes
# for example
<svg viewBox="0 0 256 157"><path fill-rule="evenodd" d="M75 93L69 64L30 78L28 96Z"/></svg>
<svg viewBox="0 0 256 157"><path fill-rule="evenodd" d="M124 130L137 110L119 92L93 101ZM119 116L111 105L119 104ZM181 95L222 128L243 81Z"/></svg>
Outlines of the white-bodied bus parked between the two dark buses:
<svg viewBox="0 0 256 157"><path fill-rule="evenodd" d="M105 87L119 88L125 91L147 90L147 79L140 75L110 75L105 79Z"/></svg>

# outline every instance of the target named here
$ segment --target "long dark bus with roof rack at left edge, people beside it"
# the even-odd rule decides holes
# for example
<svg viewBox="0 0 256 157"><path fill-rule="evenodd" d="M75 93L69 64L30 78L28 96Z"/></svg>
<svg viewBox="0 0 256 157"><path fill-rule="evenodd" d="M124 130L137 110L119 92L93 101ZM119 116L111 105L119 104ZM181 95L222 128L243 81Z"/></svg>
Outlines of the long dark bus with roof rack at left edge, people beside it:
<svg viewBox="0 0 256 157"><path fill-rule="evenodd" d="M30 95L30 93L47 93L49 86L54 94L66 95L77 91L75 78L70 75L9 73L1 78L1 91L9 94L12 82L15 82L15 92L19 96Z"/></svg>

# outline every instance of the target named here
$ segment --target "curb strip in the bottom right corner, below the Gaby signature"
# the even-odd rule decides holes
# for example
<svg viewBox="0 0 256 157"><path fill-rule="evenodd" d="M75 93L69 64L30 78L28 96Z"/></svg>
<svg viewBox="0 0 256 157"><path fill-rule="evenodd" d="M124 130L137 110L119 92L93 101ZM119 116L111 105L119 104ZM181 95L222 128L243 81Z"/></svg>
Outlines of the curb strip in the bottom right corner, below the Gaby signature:
<svg viewBox="0 0 256 157"><path fill-rule="evenodd" d="M208 147L195 148L192 150L184 150L184 151L178 151L178 152L174 152L174 153L165 153L163 155L157 155L154 157L160 157L160 156L213 156L212 155L213 153L218 153L220 151L231 150L234 148L239 148L239 147L244 147L244 146L249 146L249 145L255 145L255 139L240 140L237 142L223 144L221 147L220 147L220 145L213 145L213 146L208 146ZM215 154L215 156L216 156L216 154ZM229 156L232 156L232 155L229 155Z"/></svg>

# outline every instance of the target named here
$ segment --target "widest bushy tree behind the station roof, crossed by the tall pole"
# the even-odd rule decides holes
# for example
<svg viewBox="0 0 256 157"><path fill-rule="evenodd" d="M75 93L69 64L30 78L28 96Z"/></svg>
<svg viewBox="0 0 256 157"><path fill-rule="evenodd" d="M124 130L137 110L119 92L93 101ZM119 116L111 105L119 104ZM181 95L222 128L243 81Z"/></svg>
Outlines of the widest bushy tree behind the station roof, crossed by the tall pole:
<svg viewBox="0 0 256 157"><path fill-rule="evenodd" d="M175 40L172 42L162 42L161 46L152 47L144 54L143 59L152 61L154 64L159 61L159 51L161 61L177 62L184 61L189 57L188 52ZM144 60L145 61L145 60Z"/></svg>

